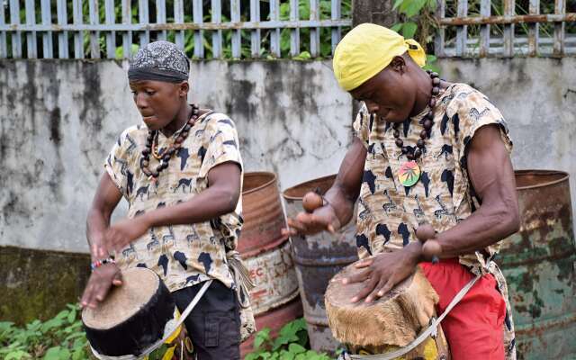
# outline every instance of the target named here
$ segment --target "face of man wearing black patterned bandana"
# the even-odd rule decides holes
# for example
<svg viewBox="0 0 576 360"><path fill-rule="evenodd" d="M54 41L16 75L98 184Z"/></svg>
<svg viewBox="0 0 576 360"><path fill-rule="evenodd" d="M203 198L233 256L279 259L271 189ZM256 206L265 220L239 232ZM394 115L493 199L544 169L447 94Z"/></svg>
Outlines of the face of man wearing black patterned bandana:
<svg viewBox="0 0 576 360"><path fill-rule="evenodd" d="M154 80L130 81L134 103L148 129L162 129L175 119L183 94L185 96L184 83L186 82L173 84Z"/></svg>

